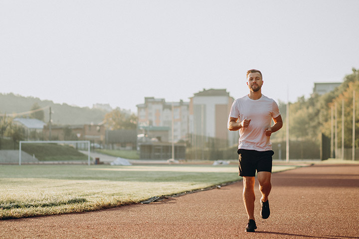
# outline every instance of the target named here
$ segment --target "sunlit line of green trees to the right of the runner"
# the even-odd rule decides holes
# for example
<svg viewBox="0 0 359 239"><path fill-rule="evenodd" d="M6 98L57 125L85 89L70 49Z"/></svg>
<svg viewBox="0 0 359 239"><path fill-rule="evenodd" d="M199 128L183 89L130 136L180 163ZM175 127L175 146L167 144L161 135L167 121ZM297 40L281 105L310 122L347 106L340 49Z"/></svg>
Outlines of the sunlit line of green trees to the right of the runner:
<svg viewBox="0 0 359 239"><path fill-rule="evenodd" d="M353 92L356 105L353 106ZM344 108L342 104L344 102ZM297 99L297 102L289 104L289 135L293 141L307 141L320 144L321 136L332 138L335 125L337 133L332 140L342 145L342 130L344 130L344 146L352 147L353 141L353 107L355 111L355 146L359 147L359 70L353 68L350 75L345 76L344 82L334 91L324 95L313 94L310 98L304 96ZM286 125L286 103L279 102L279 108L283 118L283 129ZM335 111L335 108L337 111ZM342 119L342 112L344 119ZM337 116L337 117L336 117ZM343 121L344 120L344 121ZM344 128L342 128L344 122ZM283 142L286 138L286 130L279 130L272 136L273 142Z"/></svg>

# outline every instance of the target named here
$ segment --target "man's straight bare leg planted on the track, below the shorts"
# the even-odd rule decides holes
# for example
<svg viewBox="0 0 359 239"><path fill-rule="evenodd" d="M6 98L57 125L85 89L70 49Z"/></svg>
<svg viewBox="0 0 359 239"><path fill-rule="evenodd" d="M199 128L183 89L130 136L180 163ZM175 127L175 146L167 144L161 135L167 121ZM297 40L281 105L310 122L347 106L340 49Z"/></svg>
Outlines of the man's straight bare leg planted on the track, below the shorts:
<svg viewBox="0 0 359 239"><path fill-rule="evenodd" d="M248 214L248 220L254 220L254 183L255 177L243 177L243 202Z"/></svg>

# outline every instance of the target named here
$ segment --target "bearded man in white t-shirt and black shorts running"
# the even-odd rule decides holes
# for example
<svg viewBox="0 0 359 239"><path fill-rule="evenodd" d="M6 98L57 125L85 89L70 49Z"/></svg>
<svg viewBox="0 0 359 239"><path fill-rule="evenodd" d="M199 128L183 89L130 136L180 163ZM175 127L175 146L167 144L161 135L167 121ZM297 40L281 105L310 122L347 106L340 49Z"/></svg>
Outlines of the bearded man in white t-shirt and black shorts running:
<svg viewBox="0 0 359 239"><path fill-rule="evenodd" d="M261 217L270 215L268 195L271 191L272 144L270 136L283 126L277 103L262 94L263 77L259 70L247 71L249 94L233 102L228 129L239 130L239 176L243 177L243 202L248 214L246 232L257 229L254 218L255 173L262 194ZM271 126L271 121L274 124Z"/></svg>

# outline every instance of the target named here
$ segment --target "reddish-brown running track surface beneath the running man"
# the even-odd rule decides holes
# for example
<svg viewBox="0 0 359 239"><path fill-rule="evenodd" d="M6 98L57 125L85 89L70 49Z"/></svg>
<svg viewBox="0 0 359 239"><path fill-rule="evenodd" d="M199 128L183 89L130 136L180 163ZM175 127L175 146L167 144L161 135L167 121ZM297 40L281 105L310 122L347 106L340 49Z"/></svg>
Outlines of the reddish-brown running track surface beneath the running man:
<svg viewBox="0 0 359 239"><path fill-rule="evenodd" d="M271 216L245 233L242 183L98 212L0 221L1 239L359 239L359 165L272 176Z"/></svg>

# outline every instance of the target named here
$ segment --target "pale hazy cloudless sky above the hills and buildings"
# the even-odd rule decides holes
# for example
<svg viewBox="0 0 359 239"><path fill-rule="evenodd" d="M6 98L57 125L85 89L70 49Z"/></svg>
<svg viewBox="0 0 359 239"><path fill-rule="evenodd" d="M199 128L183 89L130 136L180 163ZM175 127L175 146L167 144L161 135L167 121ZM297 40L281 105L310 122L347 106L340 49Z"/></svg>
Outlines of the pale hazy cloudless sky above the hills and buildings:
<svg viewBox="0 0 359 239"><path fill-rule="evenodd" d="M359 0L0 0L0 93L131 109L203 88L308 98L359 68Z"/></svg>

